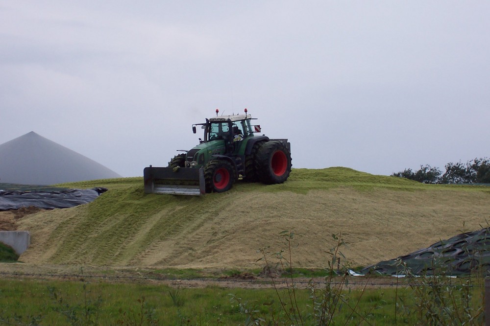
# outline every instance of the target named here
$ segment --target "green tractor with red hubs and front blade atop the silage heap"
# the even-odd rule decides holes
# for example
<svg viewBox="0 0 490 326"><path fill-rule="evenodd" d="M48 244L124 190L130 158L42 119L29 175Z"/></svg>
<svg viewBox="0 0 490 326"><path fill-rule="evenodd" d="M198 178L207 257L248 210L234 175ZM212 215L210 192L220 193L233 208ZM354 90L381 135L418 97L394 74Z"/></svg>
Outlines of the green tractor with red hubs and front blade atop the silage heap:
<svg viewBox="0 0 490 326"><path fill-rule="evenodd" d="M256 136L260 126L252 117L218 116L196 126L204 138L185 153L172 158L167 167L148 166L143 171L146 193L202 195L229 190L237 180L282 184L291 172L291 144L287 139Z"/></svg>

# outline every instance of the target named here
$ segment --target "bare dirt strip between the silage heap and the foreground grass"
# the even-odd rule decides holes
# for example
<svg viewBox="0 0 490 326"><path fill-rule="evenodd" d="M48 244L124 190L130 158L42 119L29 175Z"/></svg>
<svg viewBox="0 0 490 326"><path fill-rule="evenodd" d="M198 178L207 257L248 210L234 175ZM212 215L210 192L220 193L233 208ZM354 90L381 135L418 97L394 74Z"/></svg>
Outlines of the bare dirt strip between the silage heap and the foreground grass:
<svg viewBox="0 0 490 326"><path fill-rule="evenodd" d="M248 273L233 276L213 276L199 279L165 278L157 271L140 268L100 268L81 266L37 266L24 263L0 263L0 278L2 279L38 279L38 280L60 280L60 281L83 281L83 282L108 282L108 283L137 283L168 285L183 288L204 288L208 286L219 286L222 288L309 288L315 284L316 288L325 285L324 278L289 278L275 276L253 276ZM216 275L217 271L209 271L210 275ZM339 276L332 279L332 284L342 284L346 288L381 288L396 285L397 280L392 277L344 277ZM404 280L398 281L403 286Z"/></svg>

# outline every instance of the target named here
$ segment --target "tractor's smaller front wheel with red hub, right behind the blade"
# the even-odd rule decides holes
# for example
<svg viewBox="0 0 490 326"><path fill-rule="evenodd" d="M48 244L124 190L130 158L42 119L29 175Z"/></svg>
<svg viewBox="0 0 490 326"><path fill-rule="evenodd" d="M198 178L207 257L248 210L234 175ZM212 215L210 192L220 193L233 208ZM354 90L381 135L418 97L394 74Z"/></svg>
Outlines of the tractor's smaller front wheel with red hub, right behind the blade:
<svg viewBox="0 0 490 326"><path fill-rule="evenodd" d="M225 160L211 160L204 167L206 192L230 190L235 181L233 165Z"/></svg>

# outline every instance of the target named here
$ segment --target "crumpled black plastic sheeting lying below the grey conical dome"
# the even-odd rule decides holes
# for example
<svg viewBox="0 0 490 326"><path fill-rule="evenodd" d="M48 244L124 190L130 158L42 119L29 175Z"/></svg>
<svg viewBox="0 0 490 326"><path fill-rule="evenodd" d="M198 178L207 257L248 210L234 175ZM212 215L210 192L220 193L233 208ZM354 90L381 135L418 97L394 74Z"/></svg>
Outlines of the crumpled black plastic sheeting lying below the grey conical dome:
<svg viewBox="0 0 490 326"><path fill-rule="evenodd" d="M0 210L18 210L23 207L40 209L70 208L94 201L107 188L66 189L58 191L0 190Z"/></svg>

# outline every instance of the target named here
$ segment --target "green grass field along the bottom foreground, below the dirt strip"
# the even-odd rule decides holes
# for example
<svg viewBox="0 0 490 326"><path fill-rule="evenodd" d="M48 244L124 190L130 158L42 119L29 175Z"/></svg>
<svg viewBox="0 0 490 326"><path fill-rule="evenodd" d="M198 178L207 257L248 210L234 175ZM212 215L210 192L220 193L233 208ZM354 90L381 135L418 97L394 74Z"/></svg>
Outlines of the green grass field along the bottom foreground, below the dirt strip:
<svg viewBox="0 0 490 326"><path fill-rule="evenodd" d="M444 284L442 288L446 289ZM330 293L317 290L319 294ZM434 288L422 291L439 293ZM427 299L407 287L354 288L330 300L332 320L319 323L310 289L180 288L158 284L0 279L0 325L481 325L483 289ZM335 296L334 296L335 297ZM283 305L284 304L284 305ZM456 305L454 305L456 304ZM457 306L457 308L455 308ZM435 308L435 309L434 309ZM453 310L459 310L455 312ZM473 318L474 317L474 318ZM257 323L257 324L255 324ZM270 323L270 324L269 324ZM459 324L458 324L459 323Z"/></svg>

